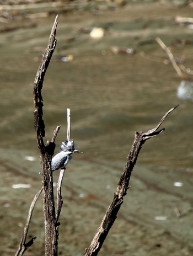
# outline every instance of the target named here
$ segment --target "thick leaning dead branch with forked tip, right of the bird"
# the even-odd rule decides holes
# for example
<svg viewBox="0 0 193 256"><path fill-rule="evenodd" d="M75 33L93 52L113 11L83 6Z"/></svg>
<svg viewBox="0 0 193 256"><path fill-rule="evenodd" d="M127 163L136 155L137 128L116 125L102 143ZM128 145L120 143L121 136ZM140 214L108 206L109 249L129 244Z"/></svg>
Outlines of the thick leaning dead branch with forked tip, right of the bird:
<svg viewBox="0 0 193 256"><path fill-rule="evenodd" d="M159 126L162 124L162 122L165 120L165 118L169 115L169 113L171 113L171 111L173 111L175 108L170 109L163 116L163 118L160 120L159 124L154 129L149 130L147 132L135 132L135 138L134 138L130 153L128 154L125 169L121 175L119 184L117 186L117 189L116 189L116 192L114 195L114 199L112 200L108 210L106 211L106 214L105 214L89 248L85 249L84 256L95 256L98 254L101 246L103 245L103 242L104 242L106 236L109 233L111 226L113 225L114 221L116 220L117 212L119 211L119 209L124 201L124 197L127 194L127 190L129 188L131 172L133 170L133 167L136 164L138 153L140 152L143 143L146 140L148 140L149 138L159 135L161 132L164 131L164 129L159 130L159 131L157 131L157 130L158 130Z"/></svg>

